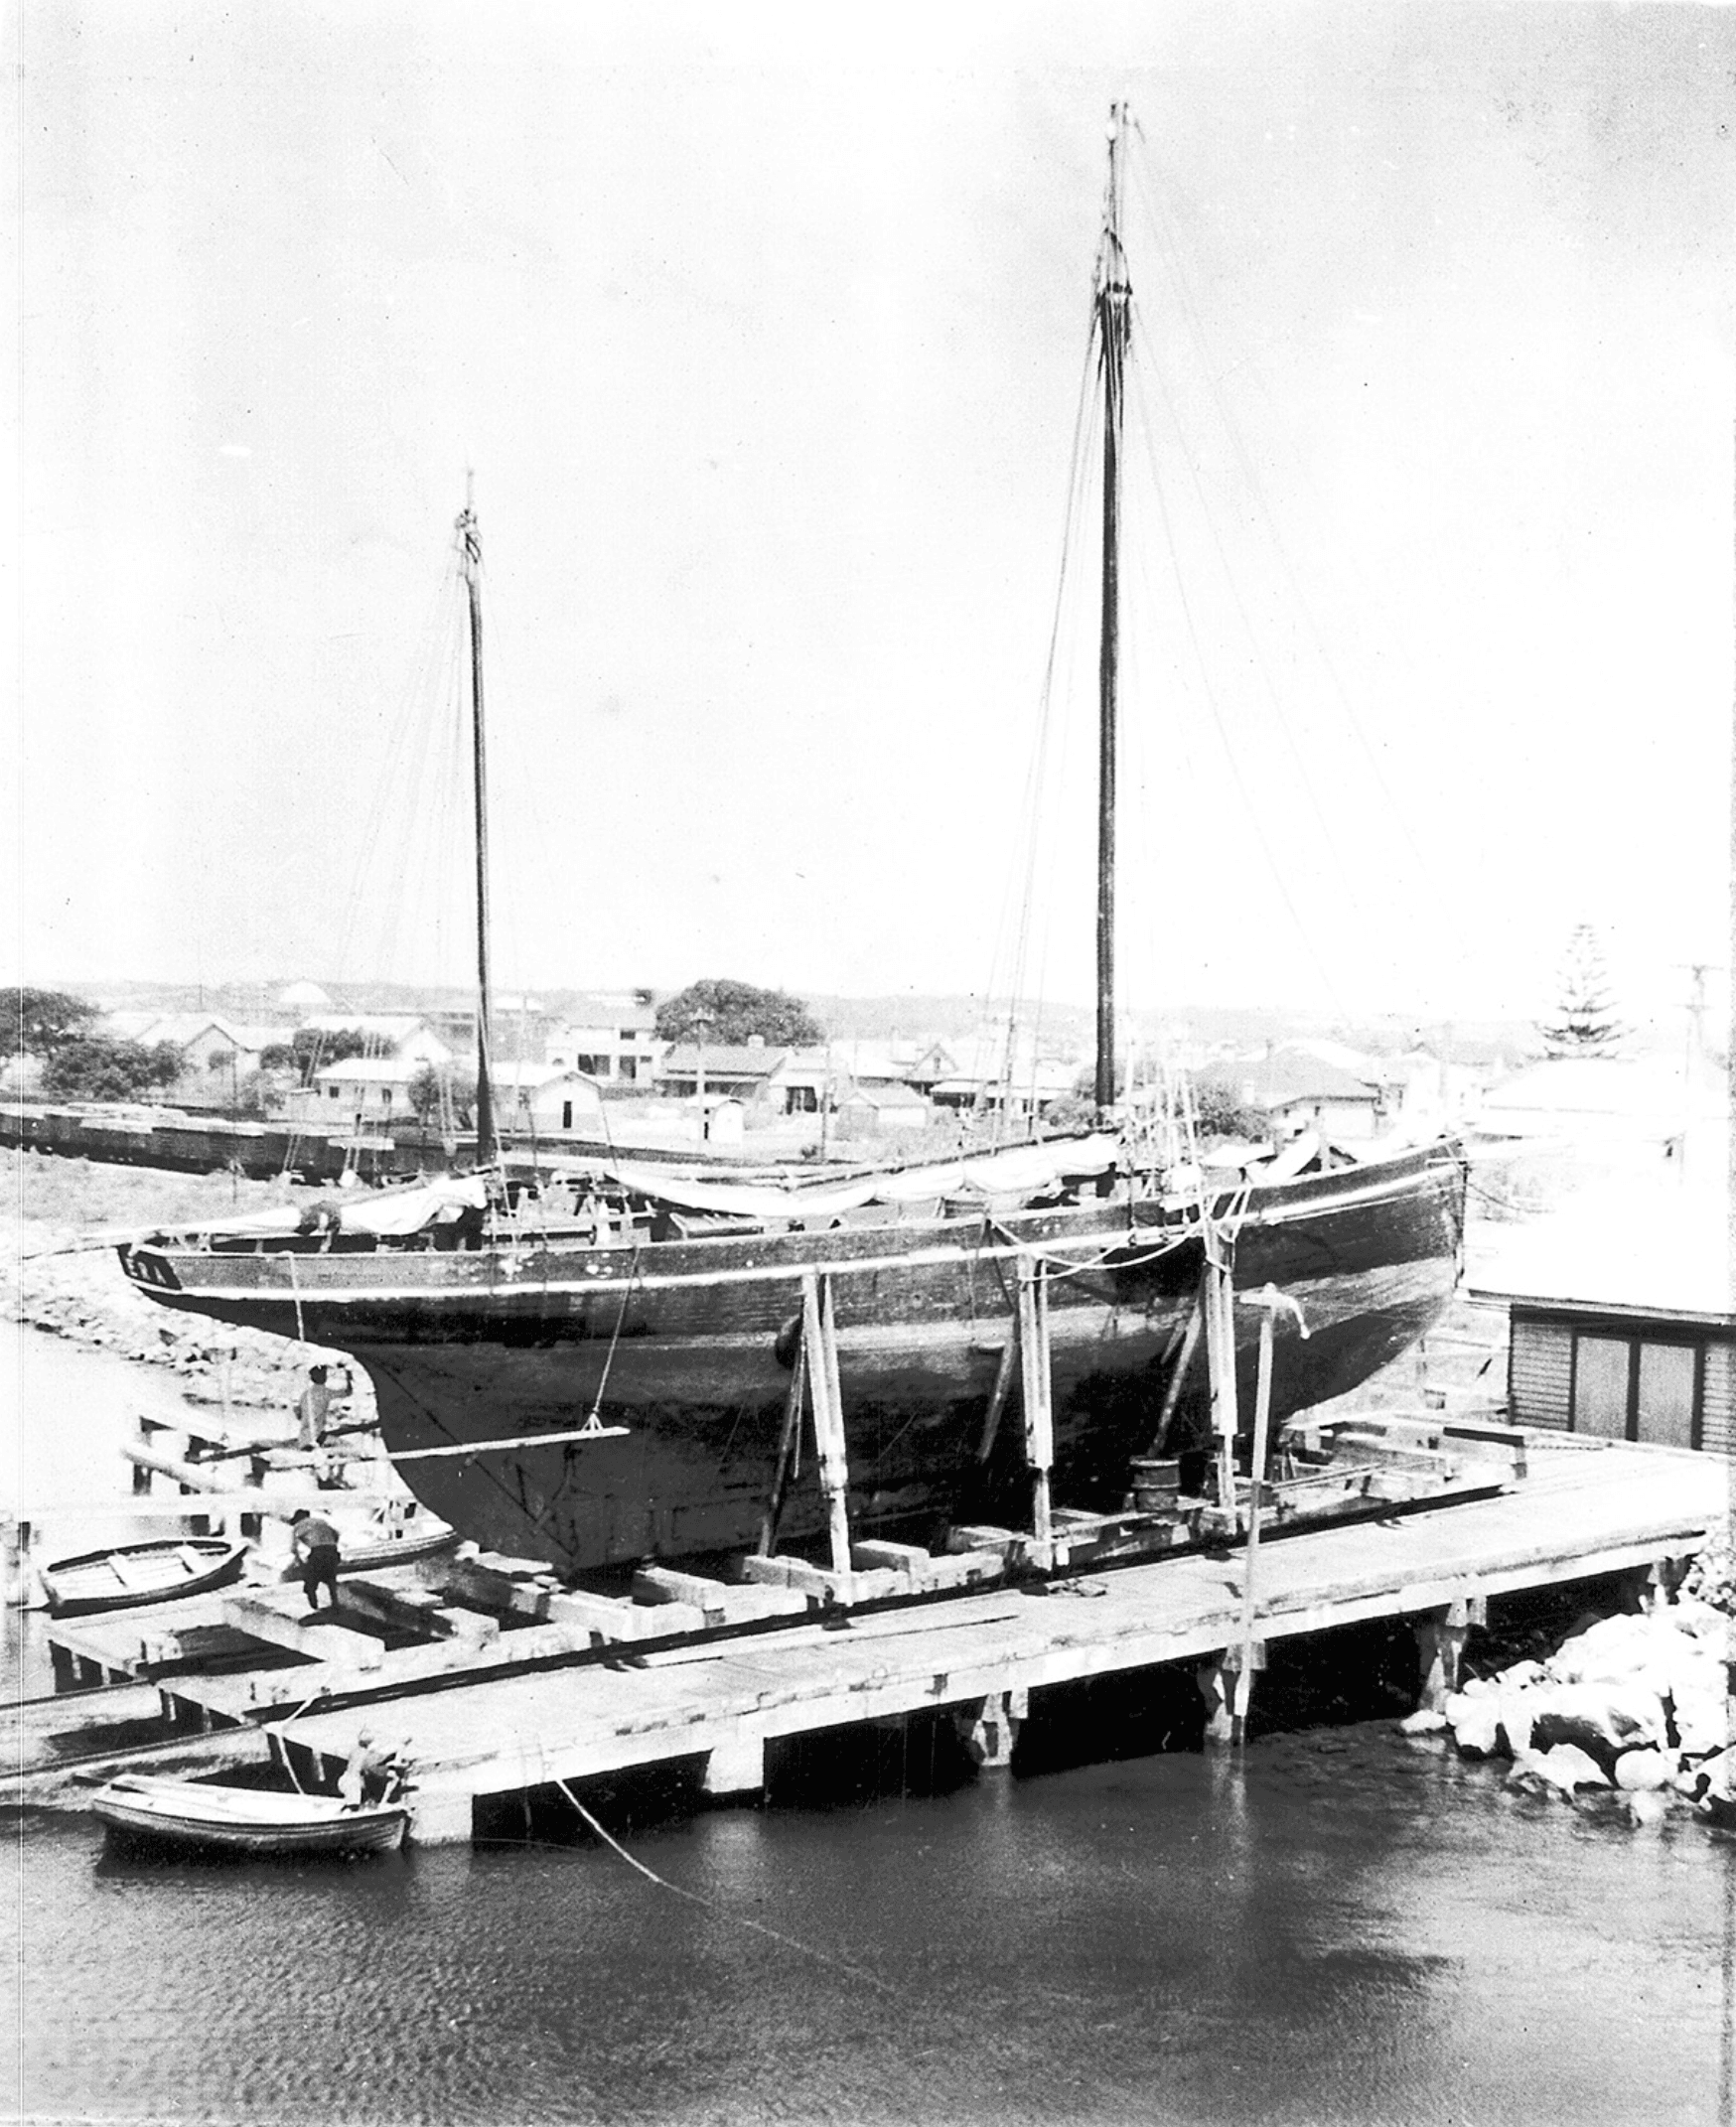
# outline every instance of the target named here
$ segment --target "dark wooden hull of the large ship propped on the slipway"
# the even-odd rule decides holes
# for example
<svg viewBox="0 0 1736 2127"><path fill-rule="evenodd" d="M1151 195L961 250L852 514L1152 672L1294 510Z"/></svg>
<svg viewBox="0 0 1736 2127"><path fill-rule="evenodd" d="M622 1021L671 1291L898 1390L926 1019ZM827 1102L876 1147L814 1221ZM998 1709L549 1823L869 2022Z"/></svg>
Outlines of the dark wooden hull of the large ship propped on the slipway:
<svg viewBox="0 0 1736 2127"><path fill-rule="evenodd" d="M1447 1146L1245 1200L1236 1287L1279 1285L1311 1329L1306 1342L1279 1332L1276 1419L1342 1395L1423 1336L1453 1293L1462 1212ZM1055 1495L1119 1506L1198 1293L1200 1232L1185 1206L1091 1202L515 1259L132 1249L123 1261L166 1306L351 1353L394 1455L483 1448L400 1463L432 1512L487 1548L581 1572L753 1542L806 1270L832 1278L857 1531L1017 1512L1017 1423L981 1448L1017 1261L1032 1251L1057 1270ZM1257 1319L1238 1317L1251 1408ZM1202 1397L1196 1357L1183 1425ZM623 1438L483 1446L570 1434L598 1406ZM804 1455L783 1529L802 1540L823 1525Z"/></svg>

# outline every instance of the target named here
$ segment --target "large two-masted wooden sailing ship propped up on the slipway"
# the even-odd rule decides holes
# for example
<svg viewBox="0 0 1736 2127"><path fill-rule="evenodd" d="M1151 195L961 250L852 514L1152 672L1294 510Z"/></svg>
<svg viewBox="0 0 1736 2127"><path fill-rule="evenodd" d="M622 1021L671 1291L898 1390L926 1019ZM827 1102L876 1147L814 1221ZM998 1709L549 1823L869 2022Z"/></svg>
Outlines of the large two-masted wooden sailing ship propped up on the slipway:
<svg viewBox="0 0 1736 2127"><path fill-rule="evenodd" d="M802 1319L819 1280L847 1419L857 1534L923 1536L1023 1493L1013 1378L1021 1266L1049 1291L1055 1495L1117 1506L1130 1461L1181 1412L1198 1423L1211 1278L1266 1283L1306 1312L1283 1334L1272 1421L1342 1395L1423 1336L1457 1278L1464 1168L1442 1140L1334 1163L1291 1149L1206 1189L1111 1132L1115 1119L1115 766L1123 376L1125 111L1111 123L1094 336L1102 387L1098 655L1100 1134L847 1180L719 1183L598 1163L602 1217L553 1221L551 1191L449 1178L347 1206L340 1225L262 1215L121 1249L170 1308L349 1353L415 1493L464 1536L568 1574L787 1540L828 1527L800 1438ZM487 795L479 536L457 551L470 619L479 976L479 1170L489 1098ZM508 1195L515 1202L508 1204ZM1211 1274L1208 1274L1208 1266ZM1225 1319L1228 1321L1228 1319ZM1228 1329L1225 1334L1228 1336ZM1228 1346L1217 1336L1219 1361ZM1213 1342L1208 1336L1206 1344ZM1257 1323L1236 1321L1249 1385Z"/></svg>

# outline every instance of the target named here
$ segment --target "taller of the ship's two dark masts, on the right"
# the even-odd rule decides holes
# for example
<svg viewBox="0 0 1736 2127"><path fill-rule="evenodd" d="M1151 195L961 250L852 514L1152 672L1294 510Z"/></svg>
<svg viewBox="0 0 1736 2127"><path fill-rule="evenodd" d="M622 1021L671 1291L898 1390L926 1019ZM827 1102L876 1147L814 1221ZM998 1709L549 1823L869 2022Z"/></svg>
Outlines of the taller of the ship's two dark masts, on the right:
<svg viewBox="0 0 1736 2127"><path fill-rule="evenodd" d="M1128 106L1108 111L1108 191L1098 247L1098 342L1104 385L1104 551L1098 640L1098 1076L1096 1100L1115 1106L1115 721L1121 651L1121 419L1132 289L1121 249L1121 140Z"/></svg>

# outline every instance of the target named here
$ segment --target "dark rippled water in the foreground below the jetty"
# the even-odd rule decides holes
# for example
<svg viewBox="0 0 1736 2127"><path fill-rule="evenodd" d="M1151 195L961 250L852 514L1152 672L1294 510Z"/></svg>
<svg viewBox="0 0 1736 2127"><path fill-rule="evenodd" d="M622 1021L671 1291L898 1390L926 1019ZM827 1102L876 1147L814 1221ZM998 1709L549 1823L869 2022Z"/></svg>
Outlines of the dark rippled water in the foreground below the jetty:
<svg viewBox="0 0 1736 2127"><path fill-rule="evenodd" d="M1066 1765L1074 1725L1034 1727L1059 1770L1011 1780L917 1751L928 1791L877 1793L847 1744L768 1812L602 1806L706 1906L555 1844L557 1812L540 1842L336 1868L115 1859L89 1821L34 1816L9 1874L13 2112L1721 2116L1736 1844L1513 1795L1389 1723Z"/></svg>

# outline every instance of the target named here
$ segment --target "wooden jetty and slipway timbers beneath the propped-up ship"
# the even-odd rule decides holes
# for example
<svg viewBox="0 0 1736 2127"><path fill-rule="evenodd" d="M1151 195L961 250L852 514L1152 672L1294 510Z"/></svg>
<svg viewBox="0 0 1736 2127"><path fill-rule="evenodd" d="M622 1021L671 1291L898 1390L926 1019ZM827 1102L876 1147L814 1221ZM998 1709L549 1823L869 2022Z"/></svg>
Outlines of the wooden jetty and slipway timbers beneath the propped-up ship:
<svg viewBox="0 0 1736 2127"><path fill-rule="evenodd" d="M632 1597L562 1589L536 1561L457 1557L364 1574L315 1621L296 1589L266 1587L49 1631L64 1682L153 1685L172 1727L151 1748L211 1770L270 1755L330 1787L362 1727L402 1738L411 1836L451 1842L470 1838L483 1797L670 1763L713 1795L753 1795L791 1738L932 1712L979 1765L1006 1765L1030 1693L1162 1663L1196 1668L1208 1736L1230 1740L1268 1644L1381 1617L1413 1623L1419 1695L1438 1699L1491 1597L1645 1574L1693 1555L1730 1512L1715 1457L1519 1431L1506 1446L1506 1489L1289 1534L1259 1548L1253 1589L1240 1548L1081 1574L1068 1531L1117 1517L1055 1512L1047 1576L1017 1559L1008 1574L981 1544L996 1531L953 1559L879 1544L855 1546L847 1572L764 1561L783 1582L642 1574ZM940 1572L930 1593L925 1563ZM81 1782L136 1763L62 1738L51 1763L19 1768L21 1793L87 1806Z"/></svg>

